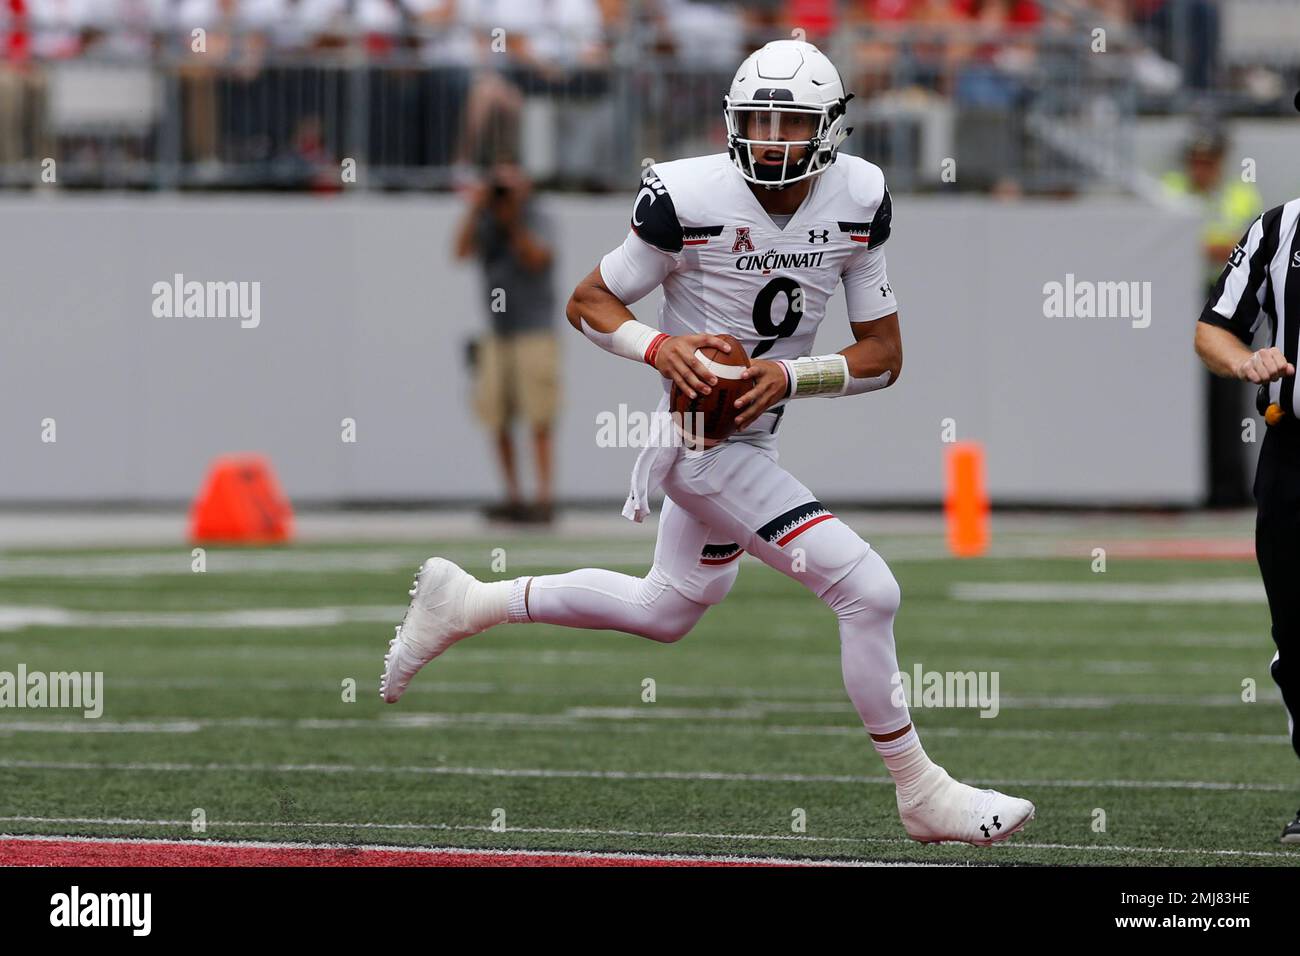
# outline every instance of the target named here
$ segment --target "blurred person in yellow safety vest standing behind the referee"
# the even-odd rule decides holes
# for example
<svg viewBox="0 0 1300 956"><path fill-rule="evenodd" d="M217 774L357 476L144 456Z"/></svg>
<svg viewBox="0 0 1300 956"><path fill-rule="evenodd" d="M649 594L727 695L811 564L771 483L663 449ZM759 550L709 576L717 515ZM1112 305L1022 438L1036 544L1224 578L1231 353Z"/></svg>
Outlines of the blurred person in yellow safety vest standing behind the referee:
<svg viewBox="0 0 1300 956"><path fill-rule="evenodd" d="M1201 130L1187 143L1184 168L1166 173L1165 189L1200 204L1201 281L1204 294L1214 287L1238 238L1264 211L1254 183L1245 182L1236 169L1225 170L1227 139L1218 130ZM1225 176L1227 172L1227 176ZM1242 397L1226 378L1208 376L1209 462L1208 497L1210 507L1242 507L1251 503L1247 485L1245 446L1242 444Z"/></svg>

